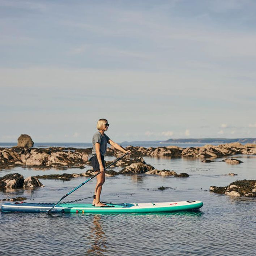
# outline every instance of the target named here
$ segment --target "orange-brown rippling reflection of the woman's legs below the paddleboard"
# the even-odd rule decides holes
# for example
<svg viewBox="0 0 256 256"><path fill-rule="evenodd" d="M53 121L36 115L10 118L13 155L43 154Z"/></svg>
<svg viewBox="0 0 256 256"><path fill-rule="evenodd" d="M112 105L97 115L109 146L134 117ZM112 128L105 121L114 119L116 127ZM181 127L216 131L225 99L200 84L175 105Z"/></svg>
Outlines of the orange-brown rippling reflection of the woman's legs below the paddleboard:
<svg viewBox="0 0 256 256"><path fill-rule="evenodd" d="M92 244L91 248L87 251L87 253L99 254L102 252L106 252L107 236L102 229L102 220L100 214L93 216L90 238L92 240ZM86 241L86 243L88 243L88 241Z"/></svg>

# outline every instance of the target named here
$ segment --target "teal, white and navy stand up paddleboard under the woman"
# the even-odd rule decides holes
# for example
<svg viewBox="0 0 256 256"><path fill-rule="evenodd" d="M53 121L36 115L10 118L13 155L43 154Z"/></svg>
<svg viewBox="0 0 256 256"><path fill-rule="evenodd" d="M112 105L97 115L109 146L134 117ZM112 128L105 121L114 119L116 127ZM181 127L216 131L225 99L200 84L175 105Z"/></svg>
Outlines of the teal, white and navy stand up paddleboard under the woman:
<svg viewBox="0 0 256 256"><path fill-rule="evenodd" d="M25 212L25 213L46 213L54 203L29 203L29 202L7 202L2 205L2 212ZM195 210L203 206L201 201L180 201L180 202L152 202L152 203L123 203L107 204L107 207L97 207L91 204L60 203L57 204L52 213L153 213L153 212L174 212L181 210Z"/></svg>

